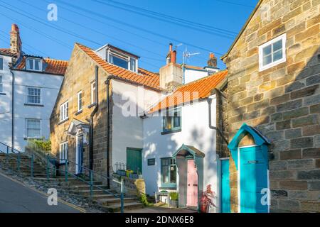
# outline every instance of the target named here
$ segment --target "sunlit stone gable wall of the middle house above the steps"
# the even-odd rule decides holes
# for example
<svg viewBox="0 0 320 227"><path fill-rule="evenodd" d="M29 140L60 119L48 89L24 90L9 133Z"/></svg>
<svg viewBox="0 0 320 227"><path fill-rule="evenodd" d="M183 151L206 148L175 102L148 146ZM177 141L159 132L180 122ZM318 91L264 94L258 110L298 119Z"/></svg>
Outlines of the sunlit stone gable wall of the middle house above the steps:
<svg viewBox="0 0 320 227"><path fill-rule="evenodd" d="M90 118L90 114L95 109L95 106L90 106L91 82L95 80L95 65L96 63L75 45L70 57L68 70L65 73L65 79L50 118L50 140L52 142L52 152L56 157L58 157L60 143L68 141L68 159L75 162L75 136L67 135L67 131L73 119L87 123L87 119ZM102 68L99 68L99 109L93 118L93 170L97 172L106 172L107 170L106 79L106 72ZM82 91L82 112L78 113L77 94L80 91ZM68 121L60 123L60 105L67 100L69 101L69 118ZM69 169L75 171L75 164L73 162L70 162ZM84 165L89 167L88 146L85 146Z"/></svg>

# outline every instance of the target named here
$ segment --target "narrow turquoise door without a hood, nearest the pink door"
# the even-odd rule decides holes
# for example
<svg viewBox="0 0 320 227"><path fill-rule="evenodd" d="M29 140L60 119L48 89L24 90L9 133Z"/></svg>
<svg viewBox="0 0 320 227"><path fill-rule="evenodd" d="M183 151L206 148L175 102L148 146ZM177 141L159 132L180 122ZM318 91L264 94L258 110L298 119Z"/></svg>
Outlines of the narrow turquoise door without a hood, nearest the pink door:
<svg viewBox="0 0 320 227"><path fill-rule="evenodd" d="M220 212L230 213L229 160L221 160Z"/></svg>

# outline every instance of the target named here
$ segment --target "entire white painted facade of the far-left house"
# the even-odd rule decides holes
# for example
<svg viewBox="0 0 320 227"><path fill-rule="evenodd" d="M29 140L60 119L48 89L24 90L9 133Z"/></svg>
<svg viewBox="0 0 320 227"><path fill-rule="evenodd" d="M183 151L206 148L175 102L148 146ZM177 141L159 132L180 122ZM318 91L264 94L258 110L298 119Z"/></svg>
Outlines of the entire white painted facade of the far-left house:
<svg viewBox="0 0 320 227"><path fill-rule="evenodd" d="M4 93L0 95L0 142L11 146L12 74L9 69L11 57L4 57ZM49 138L50 115L60 90L63 76L13 70L14 81L14 143L17 150L24 151L26 141L26 118L41 119L41 136ZM26 87L40 87L43 106L25 106ZM4 150L4 145L0 146Z"/></svg>

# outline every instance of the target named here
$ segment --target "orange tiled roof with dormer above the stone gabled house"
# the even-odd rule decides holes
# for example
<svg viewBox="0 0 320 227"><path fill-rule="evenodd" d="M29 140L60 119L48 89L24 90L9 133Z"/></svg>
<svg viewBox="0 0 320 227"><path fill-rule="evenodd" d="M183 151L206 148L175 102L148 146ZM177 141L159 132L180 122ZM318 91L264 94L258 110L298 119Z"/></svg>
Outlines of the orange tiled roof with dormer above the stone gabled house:
<svg viewBox="0 0 320 227"><path fill-rule="evenodd" d="M97 55L94 50L86 47L85 45L81 45L80 43L76 43L75 45L78 45L78 47L87 55L89 55L92 60L95 60L100 67L115 77L128 79L132 82L152 87L154 89L160 89L159 74L149 72L148 70L144 70L142 68L138 69L138 73L126 70L122 67L118 67L117 65L112 65L109 62L106 62L99 55Z"/></svg>

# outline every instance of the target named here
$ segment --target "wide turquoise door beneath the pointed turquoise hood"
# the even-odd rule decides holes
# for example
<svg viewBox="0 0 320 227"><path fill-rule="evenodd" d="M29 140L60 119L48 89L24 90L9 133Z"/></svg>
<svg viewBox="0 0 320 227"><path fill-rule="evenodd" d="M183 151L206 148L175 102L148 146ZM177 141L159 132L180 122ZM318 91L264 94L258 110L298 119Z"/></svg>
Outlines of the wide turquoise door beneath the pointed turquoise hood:
<svg viewBox="0 0 320 227"><path fill-rule="evenodd" d="M240 212L267 213L261 190L267 188L267 160L260 146L240 148Z"/></svg>

